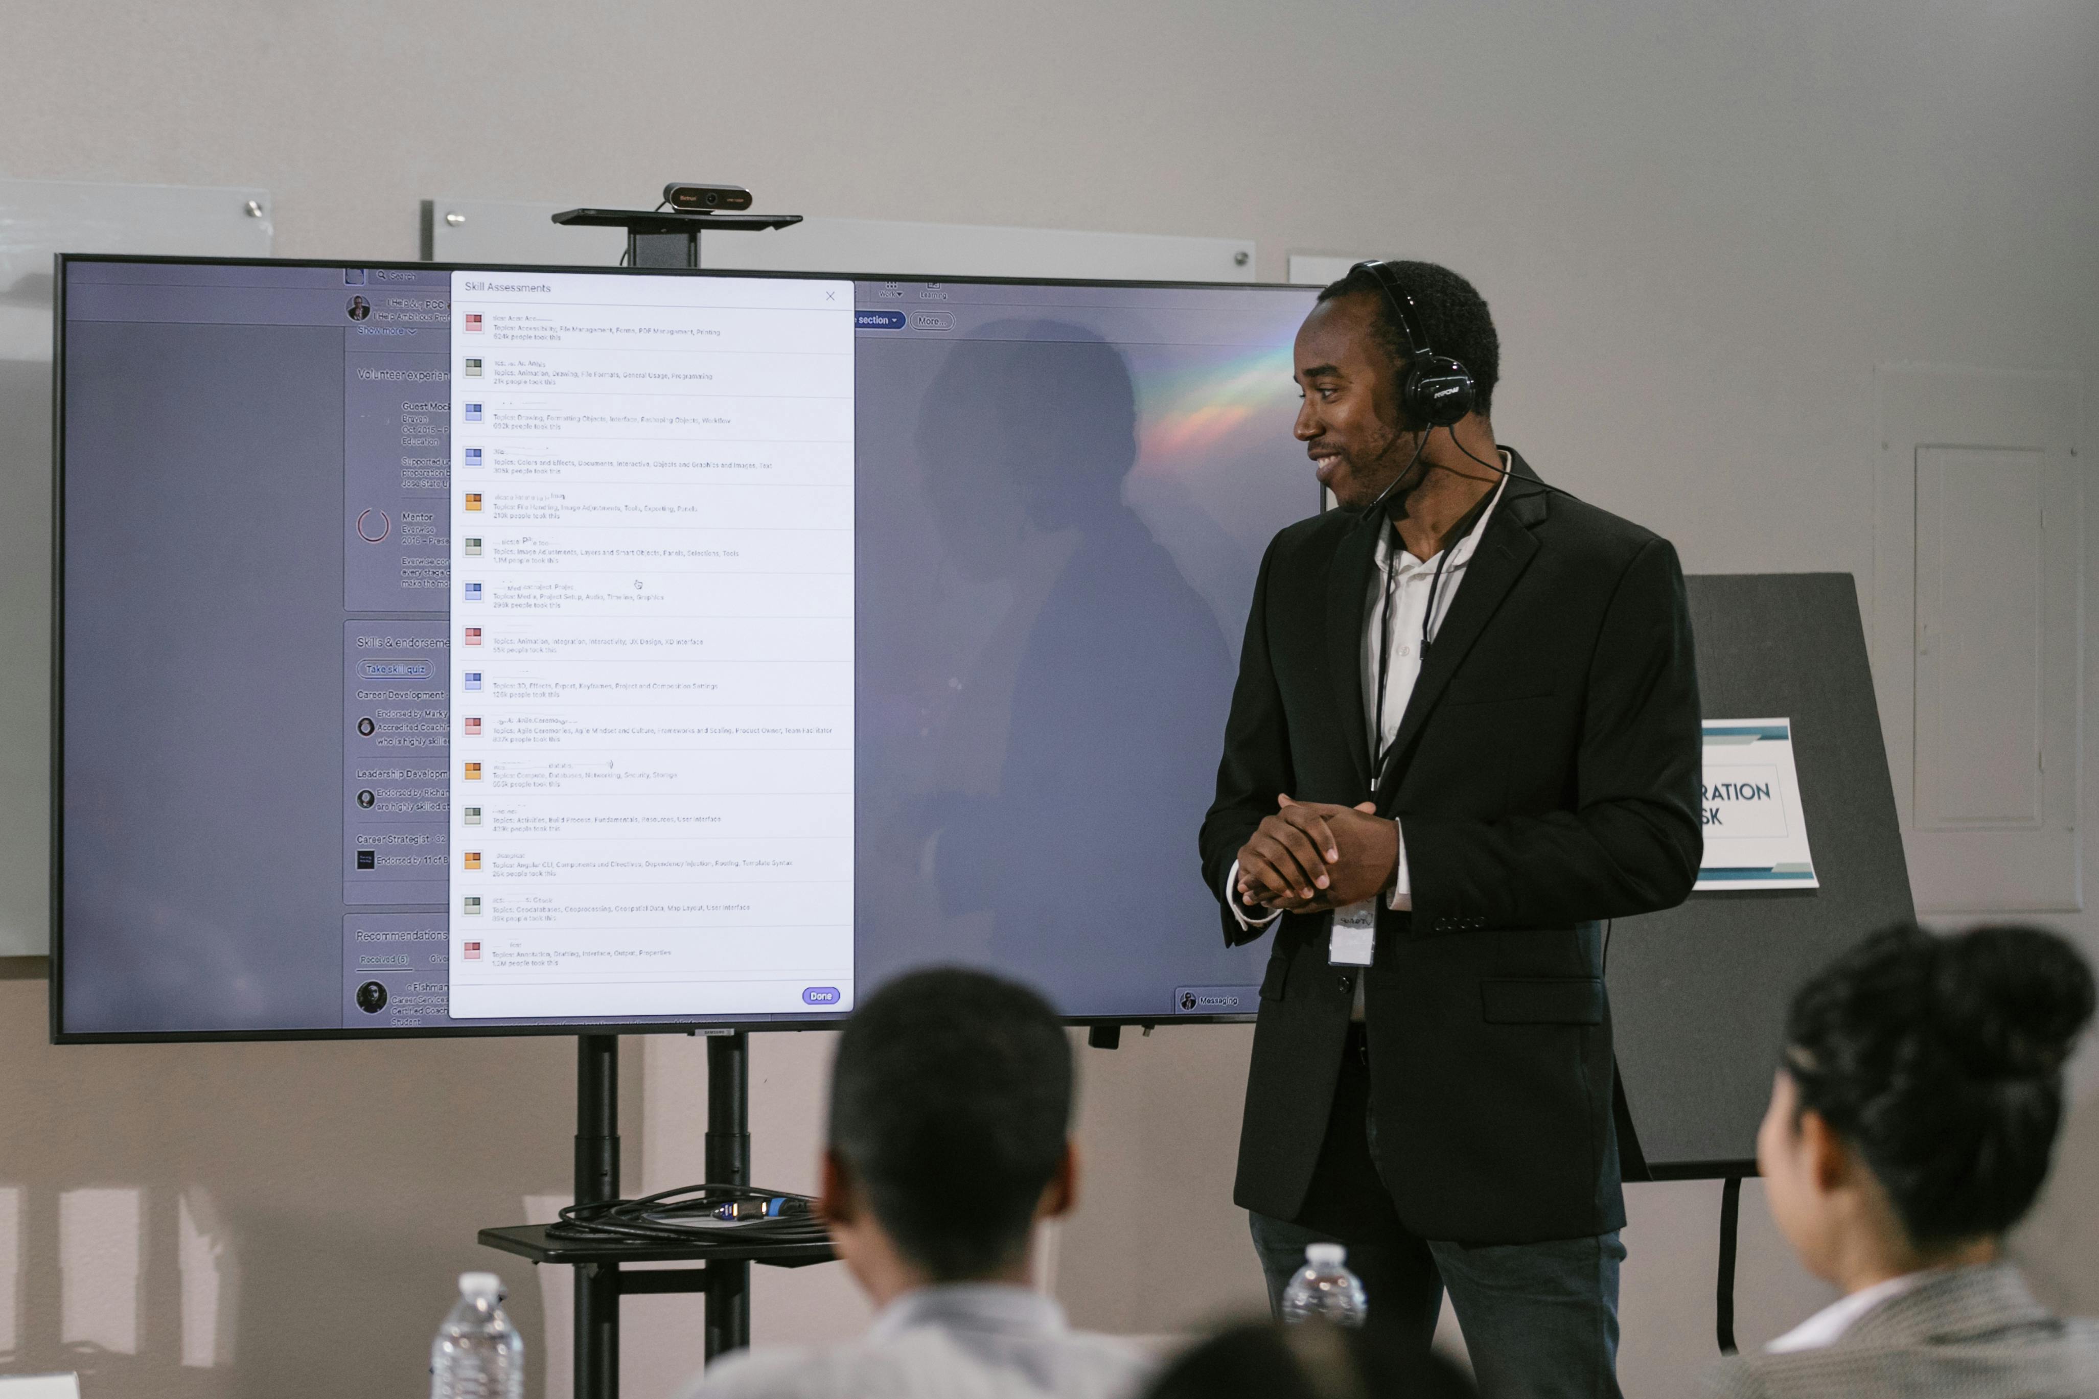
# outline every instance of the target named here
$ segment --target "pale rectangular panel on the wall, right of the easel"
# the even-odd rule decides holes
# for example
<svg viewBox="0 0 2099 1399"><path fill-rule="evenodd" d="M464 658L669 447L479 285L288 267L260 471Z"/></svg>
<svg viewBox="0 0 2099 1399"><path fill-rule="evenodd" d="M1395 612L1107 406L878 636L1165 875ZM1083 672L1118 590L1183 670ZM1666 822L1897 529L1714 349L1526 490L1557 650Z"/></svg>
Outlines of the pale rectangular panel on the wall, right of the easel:
<svg viewBox="0 0 2099 1399"><path fill-rule="evenodd" d="M2080 382L1877 380L1874 686L1916 906L2082 908Z"/></svg>

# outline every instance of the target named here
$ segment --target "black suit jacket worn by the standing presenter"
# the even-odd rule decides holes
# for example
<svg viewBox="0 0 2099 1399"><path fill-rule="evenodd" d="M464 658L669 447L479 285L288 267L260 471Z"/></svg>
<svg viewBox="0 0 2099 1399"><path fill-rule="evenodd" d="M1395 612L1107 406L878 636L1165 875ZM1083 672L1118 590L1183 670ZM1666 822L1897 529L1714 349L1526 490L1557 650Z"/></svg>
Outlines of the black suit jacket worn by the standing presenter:
<svg viewBox="0 0 2099 1399"><path fill-rule="evenodd" d="M1408 1229L1528 1244L1625 1223L1604 921L1698 877L1698 680L1675 550L1549 493L1511 453L1377 784L1413 912L1379 904L1364 988L1379 1172ZM1213 894L1276 793L1371 799L1362 627L1381 518L1329 512L1268 545L1217 799ZM1282 914L1261 982L1234 1200L1293 1219L1339 1074L1354 971L1333 914Z"/></svg>

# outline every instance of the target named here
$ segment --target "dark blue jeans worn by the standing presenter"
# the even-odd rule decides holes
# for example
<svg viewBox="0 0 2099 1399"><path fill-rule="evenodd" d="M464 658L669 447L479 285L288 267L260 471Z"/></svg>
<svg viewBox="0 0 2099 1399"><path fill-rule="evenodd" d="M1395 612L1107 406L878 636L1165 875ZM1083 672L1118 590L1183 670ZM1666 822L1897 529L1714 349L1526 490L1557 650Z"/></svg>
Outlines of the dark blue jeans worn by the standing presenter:
<svg viewBox="0 0 2099 1399"><path fill-rule="evenodd" d="M1444 1288L1484 1399L1618 1399L1618 1233L1465 1246L1400 1223L1371 1154L1369 1066L1352 1032L1327 1139L1295 1221L1251 1214L1268 1305L1303 1267L1306 1244L1343 1244L1369 1296L1369 1326L1423 1353Z"/></svg>

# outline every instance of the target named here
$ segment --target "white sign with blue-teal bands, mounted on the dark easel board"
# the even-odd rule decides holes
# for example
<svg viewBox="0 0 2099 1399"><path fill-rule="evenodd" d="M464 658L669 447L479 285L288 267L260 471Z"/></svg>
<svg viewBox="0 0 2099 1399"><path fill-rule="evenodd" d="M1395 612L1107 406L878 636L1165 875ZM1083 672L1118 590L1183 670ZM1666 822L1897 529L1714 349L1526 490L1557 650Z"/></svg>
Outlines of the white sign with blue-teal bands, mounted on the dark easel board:
<svg viewBox="0 0 2099 1399"><path fill-rule="evenodd" d="M1790 719L1706 719L1698 889L1820 889Z"/></svg>

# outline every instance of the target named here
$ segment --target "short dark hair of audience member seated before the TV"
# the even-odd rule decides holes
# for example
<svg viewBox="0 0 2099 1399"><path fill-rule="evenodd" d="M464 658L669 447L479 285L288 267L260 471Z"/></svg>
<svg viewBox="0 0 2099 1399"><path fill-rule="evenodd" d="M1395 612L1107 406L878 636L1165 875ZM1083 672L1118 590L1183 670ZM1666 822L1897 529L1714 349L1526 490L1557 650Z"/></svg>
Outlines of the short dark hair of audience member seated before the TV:
<svg viewBox="0 0 2099 1399"><path fill-rule="evenodd" d="M831 1149L938 1282L1022 1254L1070 1131L1070 1042L1024 986L957 967L890 982L846 1021Z"/></svg>

